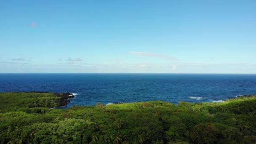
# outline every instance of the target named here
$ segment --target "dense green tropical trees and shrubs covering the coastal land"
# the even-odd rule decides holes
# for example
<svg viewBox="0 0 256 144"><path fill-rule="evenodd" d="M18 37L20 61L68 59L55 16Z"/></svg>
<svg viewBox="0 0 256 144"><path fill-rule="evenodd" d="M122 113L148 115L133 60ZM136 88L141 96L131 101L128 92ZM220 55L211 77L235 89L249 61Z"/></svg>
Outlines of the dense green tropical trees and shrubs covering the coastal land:
<svg viewBox="0 0 256 144"><path fill-rule="evenodd" d="M256 96L55 107L53 93L0 93L1 144L255 144Z"/></svg>

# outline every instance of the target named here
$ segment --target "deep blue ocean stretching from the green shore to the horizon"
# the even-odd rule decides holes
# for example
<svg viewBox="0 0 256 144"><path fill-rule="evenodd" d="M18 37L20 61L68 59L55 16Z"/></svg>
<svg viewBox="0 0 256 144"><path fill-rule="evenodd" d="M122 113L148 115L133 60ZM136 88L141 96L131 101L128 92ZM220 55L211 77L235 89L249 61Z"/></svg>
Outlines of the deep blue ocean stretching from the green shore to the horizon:
<svg viewBox="0 0 256 144"><path fill-rule="evenodd" d="M77 94L72 105L162 100L221 101L256 94L256 75L236 74L0 74L0 92Z"/></svg>

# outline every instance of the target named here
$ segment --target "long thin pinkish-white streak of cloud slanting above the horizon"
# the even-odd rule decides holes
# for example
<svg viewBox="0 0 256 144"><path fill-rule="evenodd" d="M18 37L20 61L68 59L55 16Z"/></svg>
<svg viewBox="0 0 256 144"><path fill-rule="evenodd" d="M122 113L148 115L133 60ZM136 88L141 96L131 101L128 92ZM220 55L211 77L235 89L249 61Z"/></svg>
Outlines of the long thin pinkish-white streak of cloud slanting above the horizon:
<svg viewBox="0 0 256 144"><path fill-rule="evenodd" d="M129 53L138 55L138 56L147 56L147 57L159 57L168 61L178 61L179 59L175 57L171 57L165 54L159 54L159 53L146 53L146 52L138 52L138 51L130 51Z"/></svg>

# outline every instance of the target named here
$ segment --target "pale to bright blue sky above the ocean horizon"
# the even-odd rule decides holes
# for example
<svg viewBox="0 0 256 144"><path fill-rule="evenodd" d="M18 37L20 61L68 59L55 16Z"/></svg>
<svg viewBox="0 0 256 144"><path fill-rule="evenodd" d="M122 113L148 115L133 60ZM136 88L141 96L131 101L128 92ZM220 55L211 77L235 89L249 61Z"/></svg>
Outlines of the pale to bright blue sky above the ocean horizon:
<svg viewBox="0 0 256 144"><path fill-rule="evenodd" d="M256 73L256 0L0 0L0 73Z"/></svg>

